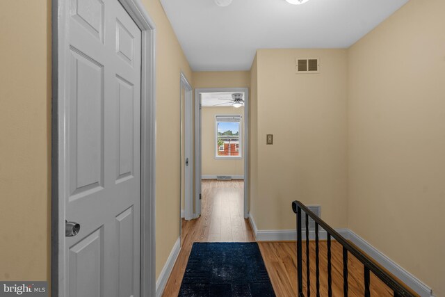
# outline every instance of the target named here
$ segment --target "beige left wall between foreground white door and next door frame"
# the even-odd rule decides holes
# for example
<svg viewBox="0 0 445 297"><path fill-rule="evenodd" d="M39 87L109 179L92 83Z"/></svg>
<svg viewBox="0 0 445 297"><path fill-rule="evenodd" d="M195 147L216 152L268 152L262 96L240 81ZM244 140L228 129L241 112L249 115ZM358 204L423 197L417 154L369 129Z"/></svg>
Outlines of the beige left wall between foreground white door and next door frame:
<svg viewBox="0 0 445 297"><path fill-rule="evenodd" d="M180 84L191 68L159 0L143 0L156 24L156 278L179 236Z"/></svg>

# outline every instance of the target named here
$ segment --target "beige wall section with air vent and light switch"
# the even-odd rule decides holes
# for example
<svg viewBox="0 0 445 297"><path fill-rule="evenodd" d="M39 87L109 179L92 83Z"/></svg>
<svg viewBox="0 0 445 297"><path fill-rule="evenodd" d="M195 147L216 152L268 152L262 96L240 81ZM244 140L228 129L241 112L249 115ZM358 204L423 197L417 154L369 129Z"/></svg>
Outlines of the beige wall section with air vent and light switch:
<svg viewBox="0 0 445 297"><path fill-rule="evenodd" d="M320 73L296 74L296 57L320 58ZM294 229L293 200L321 204L327 222L346 227L346 65L344 49L257 51L257 192L250 211L259 230Z"/></svg>

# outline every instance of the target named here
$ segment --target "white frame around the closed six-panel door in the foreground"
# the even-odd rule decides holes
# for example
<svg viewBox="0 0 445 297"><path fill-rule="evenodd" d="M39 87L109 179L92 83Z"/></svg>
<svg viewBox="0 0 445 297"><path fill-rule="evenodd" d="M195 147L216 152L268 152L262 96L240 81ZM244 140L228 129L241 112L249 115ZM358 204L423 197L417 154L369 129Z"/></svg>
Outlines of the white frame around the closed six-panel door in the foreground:
<svg viewBox="0 0 445 297"><path fill-rule="evenodd" d="M140 0L116 0L142 31L140 106L140 296L156 291L155 244L155 26ZM65 70L70 1L52 0L51 291L65 295L65 168L67 82Z"/></svg>

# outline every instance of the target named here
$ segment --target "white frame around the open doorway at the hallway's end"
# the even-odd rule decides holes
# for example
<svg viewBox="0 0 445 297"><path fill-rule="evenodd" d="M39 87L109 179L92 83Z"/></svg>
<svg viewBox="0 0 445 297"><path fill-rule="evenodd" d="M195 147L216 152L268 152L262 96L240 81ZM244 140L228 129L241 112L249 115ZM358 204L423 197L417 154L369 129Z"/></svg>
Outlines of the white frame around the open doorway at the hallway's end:
<svg viewBox="0 0 445 297"><path fill-rule="evenodd" d="M244 92L244 218L248 218L249 188L249 88L195 88L195 217L201 215L201 95L200 93Z"/></svg>

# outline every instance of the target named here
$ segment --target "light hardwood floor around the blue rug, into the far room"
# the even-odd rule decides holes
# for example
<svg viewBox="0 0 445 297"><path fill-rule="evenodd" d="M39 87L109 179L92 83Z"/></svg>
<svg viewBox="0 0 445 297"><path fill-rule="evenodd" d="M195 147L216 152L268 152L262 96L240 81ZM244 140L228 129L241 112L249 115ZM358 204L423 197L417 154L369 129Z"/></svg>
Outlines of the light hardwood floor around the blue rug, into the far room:
<svg viewBox="0 0 445 297"><path fill-rule="evenodd" d="M292 211L289 207L289 211ZM163 296L178 296L193 242L255 241L250 223L243 218L243 181L202 181L202 216L182 220L182 246ZM270 281L277 296L297 296L295 242L259 242ZM315 243L310 242L311 295L316 296ZM327 248L320 242L321 296L327 296ZM339 243L332 241L332 296L343 296L343 260ZM306 296L306 257L303 251L303 289ZM363 265L348 257L349 296L364 296ZM371 296L393 296L371 273Z"/></svg>

